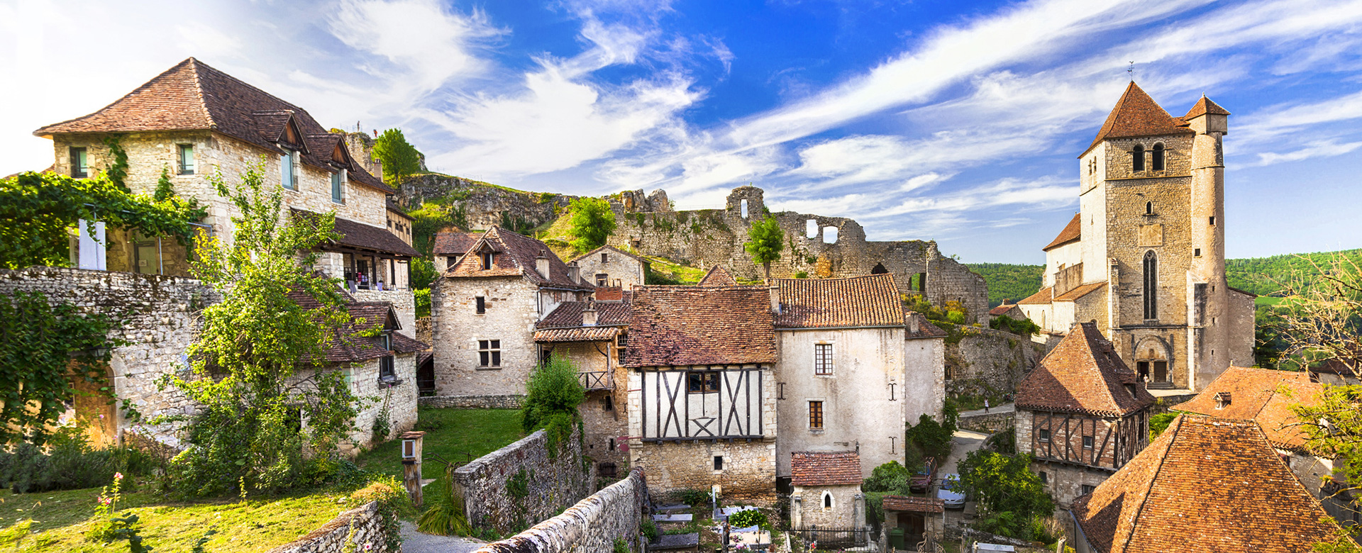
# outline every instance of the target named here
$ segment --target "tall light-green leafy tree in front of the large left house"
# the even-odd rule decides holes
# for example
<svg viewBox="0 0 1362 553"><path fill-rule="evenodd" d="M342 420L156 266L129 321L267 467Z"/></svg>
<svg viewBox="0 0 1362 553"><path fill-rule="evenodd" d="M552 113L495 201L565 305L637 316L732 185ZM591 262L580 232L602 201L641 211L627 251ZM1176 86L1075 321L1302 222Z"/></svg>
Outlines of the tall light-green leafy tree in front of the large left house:
<svg viewBox="0 0 1362 553"><path fill-rule="evenodd" d="M202 406L188 417L188 447L168 471L170 485L189 494L282 490L326 478L330 454L354 429L360 406L343 369L326 365L324 346L350 323L339 287L312 270L313 248L339 237L335 214L289 218L263 169L252 163L232 188L221 173L210 177L241 212L232 241L202 241L192 264L222 301L203 309L189 346L195 377L163 380ZM298 305L296 293L320 306Z"/></svg>

